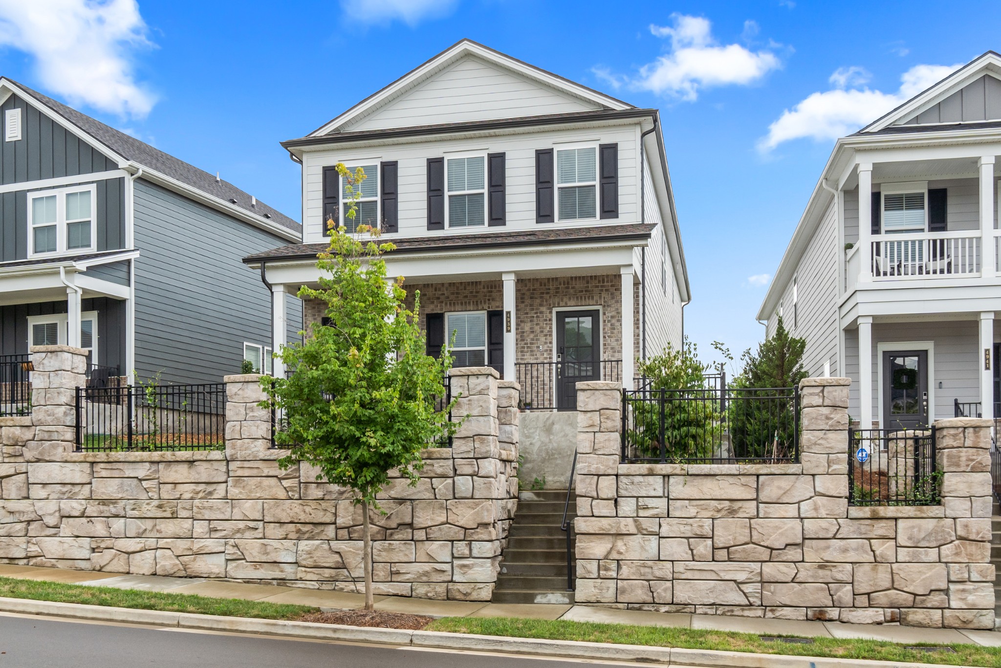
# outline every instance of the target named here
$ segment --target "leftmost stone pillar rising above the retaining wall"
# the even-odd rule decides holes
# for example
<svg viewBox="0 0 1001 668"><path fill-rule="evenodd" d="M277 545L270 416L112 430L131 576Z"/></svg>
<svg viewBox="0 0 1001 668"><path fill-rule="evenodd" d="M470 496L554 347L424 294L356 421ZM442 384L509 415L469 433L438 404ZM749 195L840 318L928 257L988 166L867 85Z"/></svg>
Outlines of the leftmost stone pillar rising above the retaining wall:
<svg viewBox="0 0 1001 668"><path fill-rule="evenodd" d="M76 389L86 383L87 352L68 346L31 349L31 423L28 461L59 460L76 449ZM86 414L82 416L86 419Z"/></svg>

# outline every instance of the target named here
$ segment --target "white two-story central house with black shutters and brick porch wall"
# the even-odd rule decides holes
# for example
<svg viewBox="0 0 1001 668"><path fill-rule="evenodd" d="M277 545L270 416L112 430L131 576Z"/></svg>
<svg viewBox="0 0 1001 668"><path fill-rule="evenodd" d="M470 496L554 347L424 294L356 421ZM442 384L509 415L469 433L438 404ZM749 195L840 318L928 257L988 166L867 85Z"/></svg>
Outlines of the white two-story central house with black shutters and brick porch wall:
<svg viewBox="0 0 1001 668"><path fill-rule="evenodd" d="M302 165L302 243L244 259L272 286L276 341L332 219L377 224L389 275L420 291L428 352L454 335L456 366L520 381L526 408L574 408L579 381L629 387L637 360L682 342L656 109L462 40L282 145ZM365 173L353 223L338 162ZM303 305L307 324L320 306Z"/></svg>

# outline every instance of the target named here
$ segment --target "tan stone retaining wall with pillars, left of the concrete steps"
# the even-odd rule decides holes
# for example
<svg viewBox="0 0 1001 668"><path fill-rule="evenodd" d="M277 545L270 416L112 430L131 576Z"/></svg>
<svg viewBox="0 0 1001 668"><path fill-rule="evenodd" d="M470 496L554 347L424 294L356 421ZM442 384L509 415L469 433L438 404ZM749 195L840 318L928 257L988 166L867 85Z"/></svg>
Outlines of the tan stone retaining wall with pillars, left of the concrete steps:
<svg viewBox="0 0 1001 668"><path fill-rule="evenodd" d="M77 453L84 352L33 354L33 415L0 418L0 562L360 588L360 510L310 467L278 468L258 376L226 378L224 452ZM451 383L453 415L469 416L453 447L379 495L376 594L490 599L518 499L519 388L482 368Z"/></svg>

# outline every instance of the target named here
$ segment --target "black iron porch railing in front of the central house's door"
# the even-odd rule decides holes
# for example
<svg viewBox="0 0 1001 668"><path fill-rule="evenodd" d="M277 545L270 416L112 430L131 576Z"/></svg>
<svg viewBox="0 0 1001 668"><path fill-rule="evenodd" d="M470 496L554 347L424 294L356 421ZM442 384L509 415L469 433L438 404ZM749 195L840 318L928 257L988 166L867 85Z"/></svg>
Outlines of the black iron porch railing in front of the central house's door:
<svg viewBox="0 0 1001 668"><path fill-rule="evenodd" d="M579 381L622 383L623 361L520 362L516 380L522 386L526 411L576 411Z"/></svg>

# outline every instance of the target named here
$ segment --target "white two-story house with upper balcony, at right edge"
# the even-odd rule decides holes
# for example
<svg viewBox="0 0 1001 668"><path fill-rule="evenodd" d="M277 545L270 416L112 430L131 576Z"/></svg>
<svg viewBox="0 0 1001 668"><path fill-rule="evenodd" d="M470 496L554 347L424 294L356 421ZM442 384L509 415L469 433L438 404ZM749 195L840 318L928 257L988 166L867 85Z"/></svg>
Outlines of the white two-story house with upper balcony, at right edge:
<svg viewBox="0 0 1001 668"><path fill-rule="evenodd" d="M835 145L758 314L864 428L998 415L1001 56Z"/></svg>

